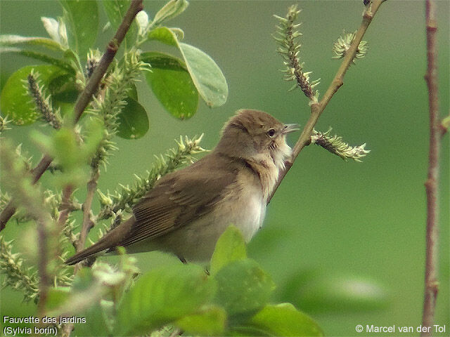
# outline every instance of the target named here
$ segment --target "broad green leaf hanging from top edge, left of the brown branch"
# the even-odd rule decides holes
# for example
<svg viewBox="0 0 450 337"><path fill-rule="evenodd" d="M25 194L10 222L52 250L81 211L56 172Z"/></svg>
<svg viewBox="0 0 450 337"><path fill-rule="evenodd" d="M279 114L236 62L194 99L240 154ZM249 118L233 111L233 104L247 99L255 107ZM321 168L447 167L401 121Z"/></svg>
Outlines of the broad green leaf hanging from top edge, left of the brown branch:
<svg viewBox="0 0 450 337"><path fill-rule="evenodd" d="M94 46L98 31L97 1L60 0L63 6L65 25L68 29L69 46L82 60L89 48Z"/></svg>

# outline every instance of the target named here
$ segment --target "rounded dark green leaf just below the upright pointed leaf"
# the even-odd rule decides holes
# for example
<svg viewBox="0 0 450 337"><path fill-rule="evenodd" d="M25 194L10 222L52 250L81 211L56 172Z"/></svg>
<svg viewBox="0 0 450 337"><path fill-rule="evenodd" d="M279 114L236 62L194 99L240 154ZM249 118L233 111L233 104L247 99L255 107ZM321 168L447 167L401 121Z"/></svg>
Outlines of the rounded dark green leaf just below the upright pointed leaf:
<svg viewBox="0 0 450 337"><path fill-rule="evenodd" d="M218 289L215 303L229 315L252 314L266 305L275 289L271 277L254 261L235 260L214 276Z"/></svg>

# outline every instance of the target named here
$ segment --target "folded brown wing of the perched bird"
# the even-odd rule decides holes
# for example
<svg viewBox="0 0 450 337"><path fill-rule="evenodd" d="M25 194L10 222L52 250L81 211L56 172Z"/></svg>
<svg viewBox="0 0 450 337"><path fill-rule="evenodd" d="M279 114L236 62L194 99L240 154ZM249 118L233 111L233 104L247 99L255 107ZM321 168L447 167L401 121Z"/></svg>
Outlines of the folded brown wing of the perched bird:
<svg viewBox="0 0 450 337"><path fill-rule="evenodd" d="M208 154L195 164L161 178L133 208L136 219L120 246L172 232L204 216L236 181L240 161Z"/></svg>

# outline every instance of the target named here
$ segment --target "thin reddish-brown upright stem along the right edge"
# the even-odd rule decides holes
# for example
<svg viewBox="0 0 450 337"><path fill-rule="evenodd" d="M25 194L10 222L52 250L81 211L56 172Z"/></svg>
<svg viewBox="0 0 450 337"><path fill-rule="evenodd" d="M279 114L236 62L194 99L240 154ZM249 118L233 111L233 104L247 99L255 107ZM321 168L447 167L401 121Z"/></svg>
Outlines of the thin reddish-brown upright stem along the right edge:
<svg viewBox="0 0 450 337"><path fill-rule="evenodd" d="M438 264L438 222L439 222L439 147L442 136L439 120L439 90L437 83L437 20L436 4L425 0L427 60L425 81L428 86L428 105L430 114L430 148L428 154L428 179L425 182L427 194L427 234L425 260L425 291L423 299L422 325L432 327L435 321ZM422 332L421 336L432 336L432 329Z"/></svg>

